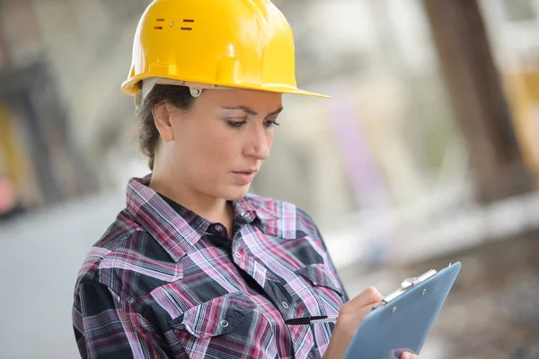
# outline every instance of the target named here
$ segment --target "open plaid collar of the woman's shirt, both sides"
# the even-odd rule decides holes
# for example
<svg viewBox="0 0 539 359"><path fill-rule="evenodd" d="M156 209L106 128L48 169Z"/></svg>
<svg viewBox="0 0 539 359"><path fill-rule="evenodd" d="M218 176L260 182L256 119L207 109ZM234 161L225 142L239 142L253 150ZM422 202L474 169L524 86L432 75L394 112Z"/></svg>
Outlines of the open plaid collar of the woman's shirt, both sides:
<svg viewBox="0 0 539 359"><path fill-rule="evenodd" d="M128 182L127 209L147 232L152 234L163 250L178 262L208 231L207 219L186 208L181 214L172 209L163 197L148 185L151 174ZM252 206L247 197L233 202L234 222L248 224L256 218L274 219L259 206Z"/></svg>

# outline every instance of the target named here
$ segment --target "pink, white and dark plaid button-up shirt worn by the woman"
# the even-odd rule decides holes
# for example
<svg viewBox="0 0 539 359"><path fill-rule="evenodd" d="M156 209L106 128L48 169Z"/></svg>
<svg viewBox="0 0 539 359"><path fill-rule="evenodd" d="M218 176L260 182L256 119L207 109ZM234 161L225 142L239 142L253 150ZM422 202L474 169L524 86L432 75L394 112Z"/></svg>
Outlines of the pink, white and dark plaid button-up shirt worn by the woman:
<svg viewBox="0 0 539 359"><path fill-rule="evenodd" d="M90 250L73 324L89 358L321 358L348 300L312 219L287 202L235 201L234 236L148 188Z"/></svg>

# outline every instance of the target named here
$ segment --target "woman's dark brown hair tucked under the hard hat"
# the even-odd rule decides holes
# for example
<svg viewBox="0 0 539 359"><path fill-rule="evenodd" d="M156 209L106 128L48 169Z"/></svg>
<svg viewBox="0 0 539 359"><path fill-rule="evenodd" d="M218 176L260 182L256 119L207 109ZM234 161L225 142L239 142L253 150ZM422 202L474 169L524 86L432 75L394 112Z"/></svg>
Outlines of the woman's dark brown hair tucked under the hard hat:
<svg viewBox="0 0 539 359"><path fill-rule="evenodd" d="M154 170L155 151L159 144L159 131L155 127L154 114L152 109L162 101L170 102L178 109L189 110L195 98L191 96L189 87L157 84L146 96L142 105L137 109L138 144L142 153L148 157L148 167Z"/></svg>

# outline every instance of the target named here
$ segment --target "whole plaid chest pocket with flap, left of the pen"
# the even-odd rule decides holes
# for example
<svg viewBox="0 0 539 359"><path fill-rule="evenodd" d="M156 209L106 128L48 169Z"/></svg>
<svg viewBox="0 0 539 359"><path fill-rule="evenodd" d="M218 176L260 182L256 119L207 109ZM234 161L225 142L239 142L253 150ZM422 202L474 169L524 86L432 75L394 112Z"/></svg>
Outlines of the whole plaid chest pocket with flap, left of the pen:
<svg viewBox="0 0 539 359"><path fill-rule="evenodd" d="M171 327L191 359L238 358L260 348L254 339L262 316L245 293L230 293L185 311Z"/></svg>

